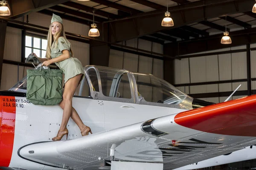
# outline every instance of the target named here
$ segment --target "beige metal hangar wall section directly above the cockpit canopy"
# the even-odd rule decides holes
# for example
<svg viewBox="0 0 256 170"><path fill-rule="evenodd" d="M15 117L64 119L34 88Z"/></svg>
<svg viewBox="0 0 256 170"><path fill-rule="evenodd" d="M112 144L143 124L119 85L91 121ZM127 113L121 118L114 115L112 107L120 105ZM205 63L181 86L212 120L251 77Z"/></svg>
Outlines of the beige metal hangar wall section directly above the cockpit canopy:
<svg viewBox="0 0 256 170"><path fill-rule="evenodd" d="M142 39L132 39L121 43L134 48L163 54L163 45ZM110 50L109 67L124 68L129 71L153 74L163 79L163 60L140 56L123 51Z"/></svg>

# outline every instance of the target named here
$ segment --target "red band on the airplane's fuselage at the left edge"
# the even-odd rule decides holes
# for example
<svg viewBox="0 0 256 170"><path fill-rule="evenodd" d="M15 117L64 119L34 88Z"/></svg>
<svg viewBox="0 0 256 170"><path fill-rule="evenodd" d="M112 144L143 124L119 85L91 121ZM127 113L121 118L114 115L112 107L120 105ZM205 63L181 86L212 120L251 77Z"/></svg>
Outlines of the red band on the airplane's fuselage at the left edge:
<svg viewBox="0 0 256 170"><path fill-rule="evenodd" d="M16 102L14 96L1 96L0 167L9 167L14 142Z"/></svg>

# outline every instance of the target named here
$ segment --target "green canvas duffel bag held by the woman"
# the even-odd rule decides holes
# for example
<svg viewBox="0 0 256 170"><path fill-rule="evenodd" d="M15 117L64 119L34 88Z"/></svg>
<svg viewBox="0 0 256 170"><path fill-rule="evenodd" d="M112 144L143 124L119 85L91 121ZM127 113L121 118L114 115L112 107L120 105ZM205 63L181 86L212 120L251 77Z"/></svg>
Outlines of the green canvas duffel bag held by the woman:
<svg viewBox="0 0 256 170"><path fill-rule="evenodd" d="M57 105L62 100L62 70L27 70L26 99L35 105Z"/></svg>

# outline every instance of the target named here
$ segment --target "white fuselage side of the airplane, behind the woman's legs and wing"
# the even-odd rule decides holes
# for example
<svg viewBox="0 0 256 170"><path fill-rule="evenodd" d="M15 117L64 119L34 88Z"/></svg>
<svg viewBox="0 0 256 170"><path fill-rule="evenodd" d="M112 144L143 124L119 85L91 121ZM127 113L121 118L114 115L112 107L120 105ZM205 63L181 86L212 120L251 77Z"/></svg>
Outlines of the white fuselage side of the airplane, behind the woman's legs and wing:
<svg viewBox="0 0 256 170"><path fill-rule="evenodd" d="M2 96L2 99L6 100L8 98L8 96ZM20 147L27 144L52 141L52 137L58 133L63 110L58 105L33 105L27 102L25 97L12 98L15 98L15 103L6 102L4 104L15 109L15 136L9 167L26 170L61 169L22 159L18 156L17 151ZM84 124L89 126L93 133L100 133L137 122L186 111L185 109L178 108L103 101L81 97L73 98L73 107L79 113ZM81 138L79 127L72 119L69 120L67 129L69 130L68 139ZM62 140L65 139L63 138ZM255 149L255 146L252 149L247 147L227 156L218 156L205 161L195 162L195 164L180 167L176 170L198 169L235 161L255 159Z"/></svg>

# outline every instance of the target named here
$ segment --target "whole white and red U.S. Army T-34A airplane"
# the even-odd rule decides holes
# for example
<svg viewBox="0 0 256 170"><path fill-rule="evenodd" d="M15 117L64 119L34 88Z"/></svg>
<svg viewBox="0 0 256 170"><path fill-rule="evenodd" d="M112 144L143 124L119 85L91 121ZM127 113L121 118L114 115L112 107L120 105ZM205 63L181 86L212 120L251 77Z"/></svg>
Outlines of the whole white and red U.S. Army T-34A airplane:
<svg viewBox="0 0 256 170"><path fill-rule="evenodd" d="M88 136L70 119L67 140L52 142L63 110L29 102L26 76L0 91L0 169L185 170L256 144L256 95L215 104L151 74L95 65L84 71L73 107Z"/></svg>

